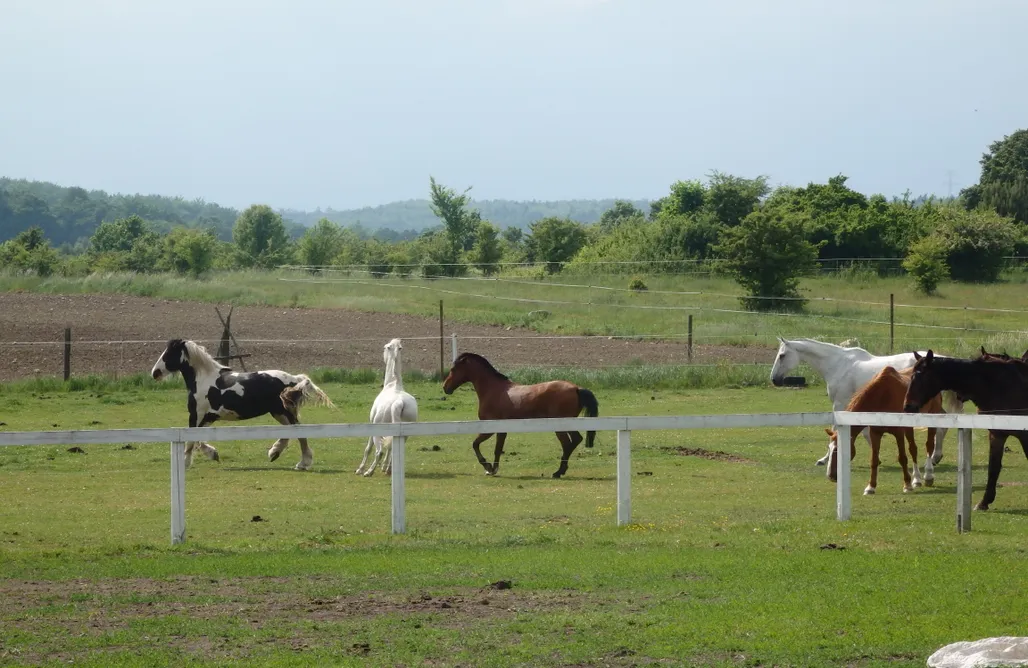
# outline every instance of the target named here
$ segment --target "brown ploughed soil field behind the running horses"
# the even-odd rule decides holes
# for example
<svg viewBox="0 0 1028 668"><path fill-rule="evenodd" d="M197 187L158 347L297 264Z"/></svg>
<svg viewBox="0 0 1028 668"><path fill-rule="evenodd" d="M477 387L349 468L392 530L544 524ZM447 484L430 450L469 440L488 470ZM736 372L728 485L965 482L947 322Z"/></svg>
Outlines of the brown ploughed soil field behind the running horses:
<svg viewBox="0 0 1028 668"><path fill-rule="evenodd" d="M222 313L226 309L222 308ZM170 338L191 338L214 352L221 323L210 303L122 295L0 294L0 381L63 372L64 330L71 328L73 374L147 372ZM501 371L516 367L617 367L686 364L684 341L554 337L526 329L446 322L445 364L451 333L460 351L485 356ZM404 339L405 369L439 368L437 320L383 312L325 308L241 306L232 334L248 369L294 372L317 367L381 366L382 345ZM773 349L694 345L694 364L770 364ZM235 362L231 366L238 367Z"/></svg>

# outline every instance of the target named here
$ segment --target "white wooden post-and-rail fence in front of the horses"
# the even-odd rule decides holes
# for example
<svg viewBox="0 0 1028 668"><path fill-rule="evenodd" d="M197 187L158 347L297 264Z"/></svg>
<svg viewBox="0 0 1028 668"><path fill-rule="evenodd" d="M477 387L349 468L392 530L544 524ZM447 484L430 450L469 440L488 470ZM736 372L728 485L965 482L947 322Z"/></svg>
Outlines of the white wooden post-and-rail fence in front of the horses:
<svg viewBox="0 0 1028 668"><path fill-rule="evenodd" d="M904 414L904 413L759 413L744 415L673 415L661 417L563 417L456 422L403 422L397 424L335 423L293 426L204 426L138 430L86 430L71 432L0 432L0 446L84 445L124 442L170 442L172 483L172 543L185 541L185 442L243 441L278 438L393 437L393 532L406 531L404 443L410 436L474 435L497 432L543 433L560 431L617 432L617 522L631 520L631 433L652 430L738 429L765 426L837 426L849 424L944 426L958 430L957 530L970 530L970 431L972 429L1028 430L1028 417L1008 415ZM819 440L818 440L819 442ZM849 451L849 430L839 430L839 450ZM838 457L836 517L851 514L850 460Z"/></svg>

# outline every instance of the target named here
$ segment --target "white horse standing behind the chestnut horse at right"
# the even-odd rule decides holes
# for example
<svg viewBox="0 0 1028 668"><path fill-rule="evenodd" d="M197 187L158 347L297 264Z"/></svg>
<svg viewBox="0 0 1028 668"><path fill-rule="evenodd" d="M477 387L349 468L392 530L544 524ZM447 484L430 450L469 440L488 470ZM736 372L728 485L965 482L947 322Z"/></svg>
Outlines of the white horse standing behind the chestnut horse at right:
<svg viewBox="0 0 1028 668"><path fill-rule="evenodd" d="M875 374L885 367L903 371L913 367L914 363L917 362L913 352L879 357L860 347L843 347L808 338L785 340L779 336L778 340L781 344L778 346L778 356L775 358L774 366L771 367L771 382L776 386L781 386L784 384L785 375L799 366L801 362L806 362L824 378L833 410L846 410L849 400L853 398L856 391L866 385L875 377ZM924 355L924 351L921 351L921 355ZM947 413L963 412L963 402L951 392L943 393L943 406ZM835 424L832 425L832 431L838 431ZM869 431L865 430L862 434L870 444ZM940 428L935 438L935 453L931 457L925 457L925 481L934 479L934 465L943 459L943 439L945 436L946 430ZM817 466L827 463L831 454L832 444L829 443L828 453L817 460Z"/></svg>

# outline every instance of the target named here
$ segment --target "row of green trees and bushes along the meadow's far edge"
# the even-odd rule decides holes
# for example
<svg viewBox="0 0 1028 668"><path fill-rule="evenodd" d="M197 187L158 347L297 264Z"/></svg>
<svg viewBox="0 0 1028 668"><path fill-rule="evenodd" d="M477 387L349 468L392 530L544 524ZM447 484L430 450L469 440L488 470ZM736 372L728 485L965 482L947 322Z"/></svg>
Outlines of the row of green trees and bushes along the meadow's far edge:
<svg viewBox="0 0 1028 668"><path fill-rule="evenodd" d="M472 206L470 188L458 191L430 177L430 211L438 224L412 238L375 238L328 218L296 235L281 213L255 205L233 219L230 240L212 227L166 226L132 214L100 222L84 243L59 253L47 228L33 225L0 245L0 266L43 275L198 276L299 264L315 272L361 267L373 276L435 277L491 275L505 263L536 264L546 273L597 263L605 272L633 273L700 263L734 275L750 295L749 307L798 308L800 279L818 260L833 258L902 259L928 294L948 279L996 281L1004 257L1028 252L1028 131L992 143L981 164L979 183L948 200L868 196L842 175L772 189L763 176L713 172L705 181L671 184L648 211L640 202L613 200L594 223L545 216L527 229L490 221Z"/></svg>

